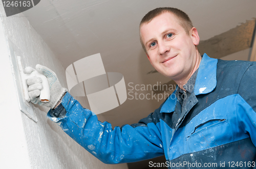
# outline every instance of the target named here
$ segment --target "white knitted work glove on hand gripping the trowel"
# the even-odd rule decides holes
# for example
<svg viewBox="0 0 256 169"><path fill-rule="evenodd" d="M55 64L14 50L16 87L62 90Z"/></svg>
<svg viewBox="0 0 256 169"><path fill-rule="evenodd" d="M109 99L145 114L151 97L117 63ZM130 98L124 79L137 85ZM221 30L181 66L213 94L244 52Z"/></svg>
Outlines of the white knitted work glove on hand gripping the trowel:
<svg viewBox="0 0 256 169"><path fill-rule="evenodd" d="M49 68L39 64L36 65L35 68L39 73L44 74L47 77L51 96L49 102L41 102L39 99L39 95L40 90L42 89L42 79L40 77L31 77L27 80L30 101L34 104L54 108L58 101L62 98L62 96L65 95L67 89L61 87L56 74ZM36 70L32 67L26 67L24 73L30 74L31 72Z"/></svg>

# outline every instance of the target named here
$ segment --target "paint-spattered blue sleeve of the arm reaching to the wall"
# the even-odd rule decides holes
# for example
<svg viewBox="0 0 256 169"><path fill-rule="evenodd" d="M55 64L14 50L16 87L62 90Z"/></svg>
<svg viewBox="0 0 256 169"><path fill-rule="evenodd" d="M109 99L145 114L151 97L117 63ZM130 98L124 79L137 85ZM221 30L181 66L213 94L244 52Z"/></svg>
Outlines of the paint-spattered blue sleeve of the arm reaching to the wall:
<svg viewBox="0 0 256 169"><path fill-rule="evenodd" d="M79 145L104 163L126 163L158 157L164 154L157 115L152 113L138 124L121 128L108 122L100 122L97 116L83 108L69 93L63 97L61 106L66 116L48 117Z"/></svg>

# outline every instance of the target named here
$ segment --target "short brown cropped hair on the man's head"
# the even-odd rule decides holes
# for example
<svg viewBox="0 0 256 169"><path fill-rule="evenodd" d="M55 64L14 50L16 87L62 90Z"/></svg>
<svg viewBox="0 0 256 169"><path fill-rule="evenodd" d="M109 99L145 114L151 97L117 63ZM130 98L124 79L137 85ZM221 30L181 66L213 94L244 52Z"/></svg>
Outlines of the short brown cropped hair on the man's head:
<svg viewBox="0 0 256 169"><path fill-rule="evenodd" d="M156 8L156 9L148 12L140 21L140 27L143 23L150 22L153 18L161 15L164 12L170 12L170 13L173 13L174 15L176 15L180 19L180 25L187 32L187 34L189 33L189 30L193 27L193 23L191 22L188 15L185 12L183 12L177 8L171 8L171 7ZM139 29L140 29L140 27L139 27ZM144 51L146 52L146 48L142 42L141 35L140 35L140 43L141 43Z"/></svg>

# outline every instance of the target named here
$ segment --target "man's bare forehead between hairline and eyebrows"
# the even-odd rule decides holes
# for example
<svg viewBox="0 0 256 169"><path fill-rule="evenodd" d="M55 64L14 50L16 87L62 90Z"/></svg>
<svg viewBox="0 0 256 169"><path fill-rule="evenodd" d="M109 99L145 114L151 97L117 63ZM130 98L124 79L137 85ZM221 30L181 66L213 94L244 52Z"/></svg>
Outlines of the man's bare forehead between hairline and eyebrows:
<svg viewBox="0 0 256 169"><path fill-rule="evenodd" d="M154 38L157 34L161 34L167 30L184 30L181 26L181 19L179 19L175 14L170 12L164 12L156 17L154 17L150 22L143 23L140 26L140 36L141 40L145 44L146 40L149 38Z"/></svg>

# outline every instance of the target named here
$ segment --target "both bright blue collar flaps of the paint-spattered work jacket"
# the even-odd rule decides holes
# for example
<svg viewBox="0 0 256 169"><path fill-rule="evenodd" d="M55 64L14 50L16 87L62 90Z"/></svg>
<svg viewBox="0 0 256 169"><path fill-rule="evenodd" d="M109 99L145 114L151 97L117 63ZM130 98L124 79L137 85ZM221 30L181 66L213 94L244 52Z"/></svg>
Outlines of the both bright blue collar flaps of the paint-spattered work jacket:
<svg viewBox="0 0 256 169"><path fill-rule="evenodd" d="M216 71L218 60L208 57L206 53L200 62L196 78L194 93L195 95L207 94L213 91L217 85ZM173 112L176 106L176 90L166 99L160 112Z"/></svg>

